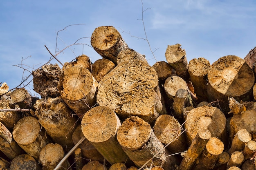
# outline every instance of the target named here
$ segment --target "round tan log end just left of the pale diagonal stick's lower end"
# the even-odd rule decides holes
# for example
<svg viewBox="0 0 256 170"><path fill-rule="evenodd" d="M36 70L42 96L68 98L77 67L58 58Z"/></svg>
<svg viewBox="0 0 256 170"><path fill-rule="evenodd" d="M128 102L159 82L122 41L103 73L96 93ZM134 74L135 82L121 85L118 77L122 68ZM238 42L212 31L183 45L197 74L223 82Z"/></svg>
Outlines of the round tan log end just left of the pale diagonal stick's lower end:
<svg viewBox="0 0 256 170"><path fill-rule="evenodd" d="M64 157L64 150L59 144L47 144L40 151L39 161L43 166L43 170L53 170ZM60 170L70 167L70 163L65 161Z"/></svg>

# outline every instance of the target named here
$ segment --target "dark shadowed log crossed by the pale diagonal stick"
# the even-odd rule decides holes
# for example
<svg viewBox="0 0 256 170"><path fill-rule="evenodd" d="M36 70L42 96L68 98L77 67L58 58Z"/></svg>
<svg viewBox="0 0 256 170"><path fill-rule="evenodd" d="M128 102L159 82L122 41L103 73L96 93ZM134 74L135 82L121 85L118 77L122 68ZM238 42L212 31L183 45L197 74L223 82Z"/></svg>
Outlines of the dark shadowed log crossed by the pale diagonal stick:
<svg viewBox="0 0 256 170"><path fill-rule="evenodd" d="M73 132L72 139L74 144L77 144L77 142L84 137L81 125L77 126L76 129ZM82 150L82 155L85 159L90 159L92 161L99 161L103 163L104 157L99 153L99 151L92 146L92 144L88 141L88 139L85 139L79 147Z"/></svg>

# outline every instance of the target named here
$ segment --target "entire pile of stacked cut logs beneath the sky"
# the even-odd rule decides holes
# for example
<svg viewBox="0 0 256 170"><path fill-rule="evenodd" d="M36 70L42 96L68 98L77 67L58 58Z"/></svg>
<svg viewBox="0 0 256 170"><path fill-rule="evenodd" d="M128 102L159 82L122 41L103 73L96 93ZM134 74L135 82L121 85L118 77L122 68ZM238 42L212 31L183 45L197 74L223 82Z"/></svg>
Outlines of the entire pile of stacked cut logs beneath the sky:
<svg viewBox="0 0 256 170"><path fill-rule="evenodd" d="M150 66L113 26L91 44L103 59L32 73L41 99L2 84L3 170L255 170L255 50L210 64L174 44Z"/></svg>

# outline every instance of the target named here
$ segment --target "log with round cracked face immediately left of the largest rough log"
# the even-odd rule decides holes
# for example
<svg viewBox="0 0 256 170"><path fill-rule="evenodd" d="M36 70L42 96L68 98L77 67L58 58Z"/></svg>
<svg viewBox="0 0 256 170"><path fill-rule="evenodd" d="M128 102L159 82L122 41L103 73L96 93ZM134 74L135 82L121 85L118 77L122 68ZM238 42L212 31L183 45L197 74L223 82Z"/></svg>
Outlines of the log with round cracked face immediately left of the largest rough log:
<svg viewBox="0 0 256 170"><path fill-rule="evenodd" d="M96 104L97 86L97 81L88 69L72 66L63 71L61 98L76 114L83 115Z"/></svg>

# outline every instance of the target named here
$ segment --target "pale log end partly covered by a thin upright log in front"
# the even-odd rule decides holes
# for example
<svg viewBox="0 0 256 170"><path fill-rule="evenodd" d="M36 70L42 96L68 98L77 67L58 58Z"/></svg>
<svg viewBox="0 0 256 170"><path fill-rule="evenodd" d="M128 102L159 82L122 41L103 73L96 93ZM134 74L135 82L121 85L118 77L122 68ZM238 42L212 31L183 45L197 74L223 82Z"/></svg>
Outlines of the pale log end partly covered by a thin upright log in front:
<svg viewBox="0 0 256 170"><path fill-rule="evenodd" d="M174 100L179 89L187 90L186 82L181 77L171 76L165 80L164 90L169 99Z"/></svg>

